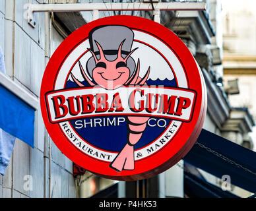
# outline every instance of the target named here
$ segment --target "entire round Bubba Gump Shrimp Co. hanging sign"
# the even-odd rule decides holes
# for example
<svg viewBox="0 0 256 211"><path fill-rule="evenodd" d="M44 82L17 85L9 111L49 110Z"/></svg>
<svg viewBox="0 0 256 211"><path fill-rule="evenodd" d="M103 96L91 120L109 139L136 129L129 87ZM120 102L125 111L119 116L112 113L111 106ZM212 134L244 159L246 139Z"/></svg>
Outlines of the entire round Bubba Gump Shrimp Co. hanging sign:
<svg viewBox="0 0 256 211"><path fill-rule="evenodd" d="M207 92L189 49L137 16L94 20L53 53L41 87L53 142L88 171L117 180L174 166L197 140Z"/></svg>

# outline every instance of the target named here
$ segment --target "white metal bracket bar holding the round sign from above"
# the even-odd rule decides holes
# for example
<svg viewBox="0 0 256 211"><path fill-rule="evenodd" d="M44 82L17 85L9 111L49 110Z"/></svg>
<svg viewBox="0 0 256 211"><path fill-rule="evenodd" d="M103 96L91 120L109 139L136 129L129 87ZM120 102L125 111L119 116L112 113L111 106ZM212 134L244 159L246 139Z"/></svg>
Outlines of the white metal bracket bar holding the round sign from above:
<svg viewBox="0 0 256 211"><path fill-rule="evenodd" d="M137 1L134 3L74 3L74 4L28 4L28 24L36 26L34 13L92 11L93 20L99 11L153 11L154 21L160 23L160 11L205 11L206 3L177 3Z"/></svg>

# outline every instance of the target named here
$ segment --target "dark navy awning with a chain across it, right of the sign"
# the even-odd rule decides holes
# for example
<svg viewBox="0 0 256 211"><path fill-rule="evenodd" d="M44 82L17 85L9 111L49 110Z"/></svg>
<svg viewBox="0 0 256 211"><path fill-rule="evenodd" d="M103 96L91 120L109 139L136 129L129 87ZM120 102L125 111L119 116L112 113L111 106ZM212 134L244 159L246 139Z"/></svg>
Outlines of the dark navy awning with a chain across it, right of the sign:
<svg viewBox="0 0 256 211"><path fill-rule="evenodd" d="M229 175L233 185L256 192L256 152L226 138L203 129L183 160L218 178Z"/></svg>

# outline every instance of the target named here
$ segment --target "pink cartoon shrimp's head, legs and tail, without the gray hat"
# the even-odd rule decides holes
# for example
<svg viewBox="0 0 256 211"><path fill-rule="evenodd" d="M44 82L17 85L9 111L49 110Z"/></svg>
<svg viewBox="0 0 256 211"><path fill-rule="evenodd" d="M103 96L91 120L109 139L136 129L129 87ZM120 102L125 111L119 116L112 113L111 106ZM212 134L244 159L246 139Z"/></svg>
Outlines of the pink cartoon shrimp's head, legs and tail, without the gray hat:
<svg viewBox="0 0 256 211"><path fill-rule="evenodd" d="M122 28L123 26L119 26L119 27L121 27L121 30L123 30ZM127 29L125 28L125 30ZM109 32L109 30L107 30L106 32ZM108 34L106 33L105 35L108 36ZM90 86L99 85L99 86L102 86L103 88L106 88L107 90L114 90L123 85L146 84L146 80L150 73L150 67L148 67L148 70L146 74L143 76L143 78L139 77L140 61L138 59L136 69L131 74L131 65L129 65L130 67L127 67L128 66L127 61L129 58L131 58L131 54L137 48L133 49L130 52L127 52L126 53L127 55L123 58L122 47L123 47L123 44L125 43L125 40L123 40L121 44L119 44L119 47L117 50L117 57L113 61L110 61L106 58L104 54L104 50L102 49L102 46L96 40L94 40L99 50L98 52L99 59L97 58L96 53L92 51L92 49L88 49L90 53L92 53L92 57L95 62L94 68L92 68L92 73L91 73L93 81L90 80L90 78L88 78L79 61L80 73L82 74L84 80L86 80L88 84L90 84ZM77 83L78 86L84 86L81 82L79 82L79 80L77 80L77 78L75 78L75 76L72 73L71 73L71 77ZM143 131L146 129L146 124L149 117L130 116L130 117L126 117L126 119L128 124L127 144L125 144L121 152L119 152L119 154L115 157L113 162L110 164L110 167L115 169L115 171L122 171L123 169L125 170L134 169L135 167L134 146L141 139L141 136L143 135Z"/></svg>

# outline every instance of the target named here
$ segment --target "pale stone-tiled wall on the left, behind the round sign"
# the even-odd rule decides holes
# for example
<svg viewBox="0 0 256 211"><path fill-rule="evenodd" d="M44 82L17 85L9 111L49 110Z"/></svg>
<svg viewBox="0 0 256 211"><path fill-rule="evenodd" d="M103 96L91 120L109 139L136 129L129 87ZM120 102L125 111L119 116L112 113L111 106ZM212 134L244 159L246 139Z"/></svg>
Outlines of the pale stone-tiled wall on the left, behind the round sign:
<svg viewBox="0 0 256 211"><path fill-rule="evenodd" d="M7 75L39 99L47 61L45 14L35 14L36 27L32 28L24 18L27 3L27 0L0 1L0 46L5 52ZM53 28L51 38L49 43L54 51L62 38ZM76 197L73 163L49 139L40 107L35 115L34 148L16 138L5 176L0 176L0 197ZM46 148L44 140L48 141ZM32 190L26 189L28 178L32 178Z"/></svg>

